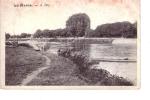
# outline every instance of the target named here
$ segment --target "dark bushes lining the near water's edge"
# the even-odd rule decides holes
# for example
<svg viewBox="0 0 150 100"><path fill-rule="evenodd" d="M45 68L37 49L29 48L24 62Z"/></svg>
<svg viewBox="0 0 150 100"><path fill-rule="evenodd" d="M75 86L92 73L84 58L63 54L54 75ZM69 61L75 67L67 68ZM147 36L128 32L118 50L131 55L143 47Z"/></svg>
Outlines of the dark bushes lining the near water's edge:
<svg viewBox="0 0 150 100"><path fill-rule="evenodd" d="M58 55L69 58L76 65L76 74L90 85L106 85L106 86L133 86L133 83L110 74L104 69L91 69L94 64L88 60L88 57L80 52L74 52L72 49L58 50Z"/></svg>

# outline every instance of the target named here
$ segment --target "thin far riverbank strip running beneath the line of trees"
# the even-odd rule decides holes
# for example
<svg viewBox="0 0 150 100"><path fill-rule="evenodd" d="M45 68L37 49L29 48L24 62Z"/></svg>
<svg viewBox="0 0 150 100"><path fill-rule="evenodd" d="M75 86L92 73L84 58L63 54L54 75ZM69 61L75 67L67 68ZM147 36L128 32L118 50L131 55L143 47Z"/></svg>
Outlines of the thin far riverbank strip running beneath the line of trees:
<svg viewBox="0 0 150 100"><path fill-rule="evenodd" d="M136 43L137 39L136 38L85 38L85 37L67 37L67 38L10 38L8 41L37 41L37 42L75 42L75 43L87 43L87 44L94 44L94 43L113 43L113 44L118 44L118 43L125 43L125 44L130 44L130 43Z"/></svg>

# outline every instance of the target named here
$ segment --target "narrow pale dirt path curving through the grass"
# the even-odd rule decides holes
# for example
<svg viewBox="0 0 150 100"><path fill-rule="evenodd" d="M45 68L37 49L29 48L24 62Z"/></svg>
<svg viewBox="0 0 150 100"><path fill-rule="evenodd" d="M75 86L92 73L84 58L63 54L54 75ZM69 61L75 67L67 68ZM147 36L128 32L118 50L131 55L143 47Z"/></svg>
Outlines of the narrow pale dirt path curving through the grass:
<svg viewBox="0 0 150 100"><path fill-rule="evenodd" d="M37 70L33 71L31 74L29 74L25 79L23 79L23 81L21 82L21 85L27 85L28 83L30 83L34 78L36 78L36 76L42 72L43 70L47 69L50 67L50 63L51 63L51 60L46 56L46 55L43 55L43 57L46 59L46 62L45 62L45 66L44 67L41 67L41 68L38 68Z"/></svg>

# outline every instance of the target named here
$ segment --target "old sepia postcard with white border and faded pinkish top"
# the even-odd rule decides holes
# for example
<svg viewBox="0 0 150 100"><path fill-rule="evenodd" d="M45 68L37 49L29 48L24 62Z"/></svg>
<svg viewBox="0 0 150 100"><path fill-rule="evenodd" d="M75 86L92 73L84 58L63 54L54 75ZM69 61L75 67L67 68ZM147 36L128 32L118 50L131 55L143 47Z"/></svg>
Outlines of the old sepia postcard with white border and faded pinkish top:
<svg viewBox="0 0 150 100"><path fill-rule="evenodd" d="M1 0L1 88L140 88L139 9L140 0Z"/></svg>

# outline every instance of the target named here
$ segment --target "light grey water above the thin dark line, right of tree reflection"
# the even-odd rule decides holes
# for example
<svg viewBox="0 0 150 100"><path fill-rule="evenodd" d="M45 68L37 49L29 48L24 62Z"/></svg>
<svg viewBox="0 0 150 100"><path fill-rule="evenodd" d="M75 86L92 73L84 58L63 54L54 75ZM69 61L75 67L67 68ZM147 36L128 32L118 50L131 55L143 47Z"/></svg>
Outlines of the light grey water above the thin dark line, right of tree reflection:
<svg viewBox="0 0 150 100"><path fill-rule="evenodd" d="M132 59L136 60L134 44L91 44L91 59Z"/></svg>

